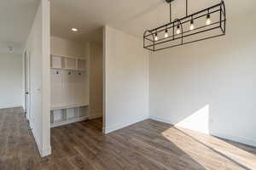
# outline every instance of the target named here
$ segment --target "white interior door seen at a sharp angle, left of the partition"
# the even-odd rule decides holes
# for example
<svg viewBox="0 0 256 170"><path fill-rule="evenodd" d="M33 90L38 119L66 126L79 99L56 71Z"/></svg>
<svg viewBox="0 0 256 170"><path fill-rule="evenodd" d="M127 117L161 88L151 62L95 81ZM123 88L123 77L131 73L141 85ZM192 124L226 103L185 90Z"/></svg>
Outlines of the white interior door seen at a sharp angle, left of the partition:
<svg viewBox="0 0 256 170"><path fill-rule="evenodd" d="M26 118L30 122L30 127L32 128L32 113L31 113L31 85L30 85L30 54L25 53L25 111Z"/></svg>

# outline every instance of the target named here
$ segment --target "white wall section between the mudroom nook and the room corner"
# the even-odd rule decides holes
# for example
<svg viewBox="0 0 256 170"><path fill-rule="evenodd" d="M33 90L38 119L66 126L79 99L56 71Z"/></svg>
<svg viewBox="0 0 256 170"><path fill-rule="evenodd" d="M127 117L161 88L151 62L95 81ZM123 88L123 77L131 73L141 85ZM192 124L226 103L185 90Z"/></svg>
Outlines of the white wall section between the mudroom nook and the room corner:
<svg viewBox="0 0 256 170"><path fill-rule="evenodd" d="M148 118L148 52L143 41L104 28L105 133Z"/></svg>

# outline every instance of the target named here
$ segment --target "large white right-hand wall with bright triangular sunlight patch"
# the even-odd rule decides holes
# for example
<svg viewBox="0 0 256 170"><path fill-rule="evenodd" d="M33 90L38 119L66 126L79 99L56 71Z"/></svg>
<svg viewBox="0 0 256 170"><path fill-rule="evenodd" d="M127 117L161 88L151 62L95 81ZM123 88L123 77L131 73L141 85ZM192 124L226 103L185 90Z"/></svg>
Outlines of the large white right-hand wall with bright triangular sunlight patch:
<svg viewBox="0 0 256 170"><path fill-rule="evenodd" d="M256 145L255 14L227 35L150 56L150 117Z"/></svg>

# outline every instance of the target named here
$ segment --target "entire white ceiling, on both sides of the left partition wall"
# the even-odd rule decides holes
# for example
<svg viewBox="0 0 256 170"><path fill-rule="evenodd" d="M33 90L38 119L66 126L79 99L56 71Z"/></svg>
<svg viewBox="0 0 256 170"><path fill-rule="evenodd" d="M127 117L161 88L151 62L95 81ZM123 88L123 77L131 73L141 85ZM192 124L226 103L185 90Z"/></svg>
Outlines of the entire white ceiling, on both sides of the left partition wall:
<svg viewBox="0 0 256 170"><path fill-rule="evenodd" d="M24 47L39 0L0 1L0 53L9 46L20 53ZM193 3L192 3L193 2ZM206 8L219 0L189 0L189 11ZM249 14L255 0L225 0L228 19ZM185 0L172 3L175 18L184 15ZM51 34L71 40L102 40L102 26L109 25L142 37L143 31L168 21L165 0L51 0ZM179 15L177 15L179 14ZM174 18L173 17L173 18ZM78 32L70 31L76 27Z"/></svg>

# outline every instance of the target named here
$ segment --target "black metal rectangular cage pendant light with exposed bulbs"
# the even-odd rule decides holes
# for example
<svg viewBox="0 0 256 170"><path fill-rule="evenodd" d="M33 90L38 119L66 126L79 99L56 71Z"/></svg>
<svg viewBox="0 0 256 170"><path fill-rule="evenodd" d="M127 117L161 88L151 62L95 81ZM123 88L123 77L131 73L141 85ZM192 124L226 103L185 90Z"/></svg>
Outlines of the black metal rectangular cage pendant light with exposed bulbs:
<svg viewBox="0 0 256 170"><path fill-rule="evenodd" d="M143 48L158 51L225 35L226 10L223 0L194 14L188 14L188 0L186 0L186 16L175 20L172 20L173 1L166 0L170 5L170 22L145 31Z"/></svg>

